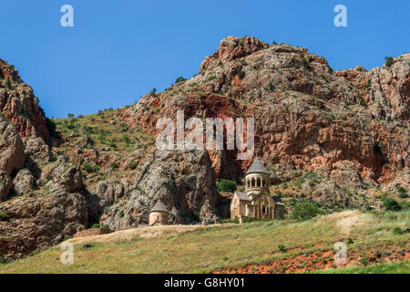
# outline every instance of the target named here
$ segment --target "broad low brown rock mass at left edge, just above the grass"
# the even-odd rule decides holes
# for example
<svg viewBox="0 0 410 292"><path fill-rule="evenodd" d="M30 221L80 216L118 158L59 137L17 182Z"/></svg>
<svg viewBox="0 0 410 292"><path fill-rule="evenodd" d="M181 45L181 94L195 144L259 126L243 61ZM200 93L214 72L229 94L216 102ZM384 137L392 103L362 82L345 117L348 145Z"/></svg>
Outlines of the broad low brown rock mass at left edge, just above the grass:
<svg viewBox="0 0 410 292"><path fill-rule="evenodd" d="M82 195L52 193L18 197L0 205L0 253L7 260L46 249L87 227Z"/></svg>

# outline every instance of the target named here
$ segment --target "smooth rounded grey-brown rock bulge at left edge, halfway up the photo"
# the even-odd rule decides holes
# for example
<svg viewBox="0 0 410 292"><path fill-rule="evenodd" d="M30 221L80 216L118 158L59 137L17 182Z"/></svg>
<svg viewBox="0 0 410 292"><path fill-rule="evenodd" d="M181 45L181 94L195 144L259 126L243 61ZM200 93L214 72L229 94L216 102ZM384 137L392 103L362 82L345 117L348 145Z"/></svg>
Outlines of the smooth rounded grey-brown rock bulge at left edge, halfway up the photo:
<svg viewBox="0 0 410 292"><path fill-rule="evenodd" d="M20 169L24 162L23 141L15 127L0 115L0 170L11 175Z"/></svg>

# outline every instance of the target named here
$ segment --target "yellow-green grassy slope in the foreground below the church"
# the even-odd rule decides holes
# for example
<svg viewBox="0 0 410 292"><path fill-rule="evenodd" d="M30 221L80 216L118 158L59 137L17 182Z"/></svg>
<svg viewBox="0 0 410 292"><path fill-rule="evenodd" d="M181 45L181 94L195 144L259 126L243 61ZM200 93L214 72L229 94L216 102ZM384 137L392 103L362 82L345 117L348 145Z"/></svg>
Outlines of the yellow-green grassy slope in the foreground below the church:
<svg viewBox="0 0 410 292"><path fill-rule="evenodd" d="M351 224L355 222L351 219L360 219L359 224ZM384 215L349 211L302 223L270 221L203 228L163 238L94 243L88 249L75 245L73 265L62 265L62 251L55 247L0 265L0 273L201 273L332 250L334 242L348 237L354 239L348 250L363 255L388 245L408 250L408 234L394 235L392 231L409 221L409 211ZM286 250L279 251L278 245L284 245ZM388 272L395 268L409 273L405 262L376 269L348 267L337 271Z"/></svg>

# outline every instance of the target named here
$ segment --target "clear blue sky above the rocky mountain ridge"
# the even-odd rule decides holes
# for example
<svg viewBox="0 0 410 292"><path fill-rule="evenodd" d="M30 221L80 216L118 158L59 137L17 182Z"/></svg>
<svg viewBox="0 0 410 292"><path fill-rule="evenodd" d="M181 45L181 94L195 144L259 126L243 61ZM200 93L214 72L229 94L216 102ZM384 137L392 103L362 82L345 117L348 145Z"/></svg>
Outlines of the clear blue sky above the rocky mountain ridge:
<svg viewBox="0 0 410 292"><path fill-rule="evenodd" d="M74 27L60 7L74 7ZM335 5L347 27L333 25ZM410 51L410 1L13 0L0 3L0 58L15 65L48 117L132 104L198 73L225 36L307 47L334 69L370 69Z"/></svg>

